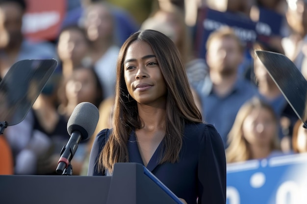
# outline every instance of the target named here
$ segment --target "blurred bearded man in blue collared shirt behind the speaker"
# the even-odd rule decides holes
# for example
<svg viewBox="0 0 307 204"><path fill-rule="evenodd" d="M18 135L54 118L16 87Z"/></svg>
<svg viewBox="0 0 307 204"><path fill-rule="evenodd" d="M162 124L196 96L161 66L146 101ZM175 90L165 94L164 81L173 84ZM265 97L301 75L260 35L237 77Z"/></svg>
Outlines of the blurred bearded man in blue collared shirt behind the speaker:
<svg viewBox="0 0 307 204"><path fill-rule="evenodd" d="M220 133L225 148L227 135L242 104L257 94L256 87L238 74L244 46L231 28L213 32L206 43L209 74L195 89L203 108L205 122Z"/></svg>

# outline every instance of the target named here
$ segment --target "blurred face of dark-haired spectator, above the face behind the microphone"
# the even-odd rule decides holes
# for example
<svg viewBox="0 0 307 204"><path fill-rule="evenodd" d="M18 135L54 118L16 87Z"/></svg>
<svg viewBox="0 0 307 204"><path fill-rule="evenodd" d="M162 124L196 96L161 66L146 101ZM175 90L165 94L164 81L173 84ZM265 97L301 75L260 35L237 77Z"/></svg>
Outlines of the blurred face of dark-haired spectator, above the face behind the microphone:
<svg viewBox="0 0 307 204"><path fill-rule="evenodd" d="M72 60L78 62L85 57L89 45L85 36L77 30L66 30L61 33L57 45L57 52L60 60ZM76 63L76 64L78 64Z"/></svg>

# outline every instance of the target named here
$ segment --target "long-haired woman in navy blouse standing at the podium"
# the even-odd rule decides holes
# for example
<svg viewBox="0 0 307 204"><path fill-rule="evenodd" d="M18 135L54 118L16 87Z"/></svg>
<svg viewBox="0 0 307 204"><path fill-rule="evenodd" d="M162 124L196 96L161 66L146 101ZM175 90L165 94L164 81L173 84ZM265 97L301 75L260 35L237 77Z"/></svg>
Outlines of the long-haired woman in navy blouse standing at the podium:
<svg viewBox="0 0 307 204"><path fill-rule="evenodd" d="M96 137L88 176L117 162L144 165L187 204L226 203L226 159L216 129L202 122L180 54L154 30L121 48L112 129Z"/></svg>

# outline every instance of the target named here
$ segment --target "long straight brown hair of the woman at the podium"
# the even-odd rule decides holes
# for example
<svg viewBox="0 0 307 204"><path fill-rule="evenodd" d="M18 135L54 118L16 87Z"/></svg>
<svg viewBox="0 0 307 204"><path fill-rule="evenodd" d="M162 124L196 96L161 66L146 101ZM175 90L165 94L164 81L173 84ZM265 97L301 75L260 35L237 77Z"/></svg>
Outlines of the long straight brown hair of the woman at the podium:
<svg viewBox="0 0 307 204"><path fill-rule="evenodd" d="M117 162L128 162L127 142L132 130L140 129L137 102L128 97L124 78L124 60L127 49L135 41L148 43L156 56L167 86L166 134L163 139L164 154L159 163L176 162L182 146L185 123L201 123L179 51L164 34L154 30L139 31L131 35L122 46L117 61L117 78L113 130L100 153L99 171L113 172Z"/></svg>

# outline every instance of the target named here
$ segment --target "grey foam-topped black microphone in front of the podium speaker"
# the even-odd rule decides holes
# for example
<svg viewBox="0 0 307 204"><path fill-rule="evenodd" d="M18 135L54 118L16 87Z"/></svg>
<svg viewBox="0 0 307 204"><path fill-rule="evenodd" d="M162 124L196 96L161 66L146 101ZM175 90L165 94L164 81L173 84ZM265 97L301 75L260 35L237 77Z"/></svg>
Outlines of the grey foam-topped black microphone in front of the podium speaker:
<svg viewBox="0 0 307 204"><path fill-rule="evenodd" d="M99 111L89 102L79 103L67 122L67 132L71 136L61 151L61 157L56 168L57 174L63 174L64 169L73 159L81 140L90 138L96 129Z"/></svg>

